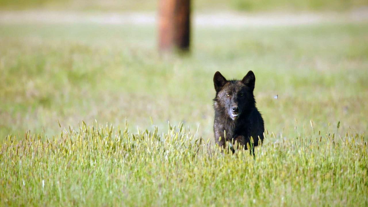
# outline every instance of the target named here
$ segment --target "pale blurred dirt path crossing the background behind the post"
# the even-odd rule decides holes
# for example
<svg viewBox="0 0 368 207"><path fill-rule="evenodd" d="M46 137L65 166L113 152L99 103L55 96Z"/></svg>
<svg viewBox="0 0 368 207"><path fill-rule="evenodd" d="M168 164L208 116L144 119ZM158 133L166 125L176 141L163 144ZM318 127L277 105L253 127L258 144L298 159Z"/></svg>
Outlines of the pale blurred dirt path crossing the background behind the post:
<svg viewBox="0 0 368 207"><path fill-rule="evenodd" d="M194 14L194 26L282 26L323 22L367 22L368 8L348 13L207 13ZM156 24L156 13L84 13L70 11L1 11L0 23L95 23L95 24Z"/></svg>

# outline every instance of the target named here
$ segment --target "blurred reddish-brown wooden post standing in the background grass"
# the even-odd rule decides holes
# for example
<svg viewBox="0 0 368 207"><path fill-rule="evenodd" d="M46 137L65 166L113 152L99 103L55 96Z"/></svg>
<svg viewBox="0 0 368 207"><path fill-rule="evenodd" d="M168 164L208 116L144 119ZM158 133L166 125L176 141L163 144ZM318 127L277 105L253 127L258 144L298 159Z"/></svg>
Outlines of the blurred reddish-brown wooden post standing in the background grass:
<svg viewBox="0 0 368 207"><path fill-rule="evenodd" d="M159 1L159 49L189 50L190 0Z"/></svg>

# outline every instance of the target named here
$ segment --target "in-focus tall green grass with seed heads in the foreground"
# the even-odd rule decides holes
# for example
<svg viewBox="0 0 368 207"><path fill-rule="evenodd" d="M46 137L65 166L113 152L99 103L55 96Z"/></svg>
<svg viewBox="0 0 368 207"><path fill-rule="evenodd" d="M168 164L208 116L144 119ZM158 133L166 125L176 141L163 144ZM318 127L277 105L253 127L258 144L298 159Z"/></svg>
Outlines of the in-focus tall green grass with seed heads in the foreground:
<svg viewBox="0 0 368 207"><path fill-rule="evenodd" d="M181 124L25 133L0 145L1 206L367 206L364 135L336 125L222 153Z"/></svg>

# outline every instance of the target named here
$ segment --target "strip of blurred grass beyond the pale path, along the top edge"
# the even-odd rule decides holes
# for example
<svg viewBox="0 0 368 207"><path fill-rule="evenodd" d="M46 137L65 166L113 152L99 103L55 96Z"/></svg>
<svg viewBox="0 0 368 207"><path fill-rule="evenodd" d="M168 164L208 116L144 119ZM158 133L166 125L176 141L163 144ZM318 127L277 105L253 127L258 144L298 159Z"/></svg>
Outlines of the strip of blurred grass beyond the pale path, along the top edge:
<svg viewBox="0 0 368 207"><path fill-rule="evenodd" d="M156 0L0 0L0 10L155 11ZM194 11L346 11L368 6L366 0L195 0Z"/></svg>

